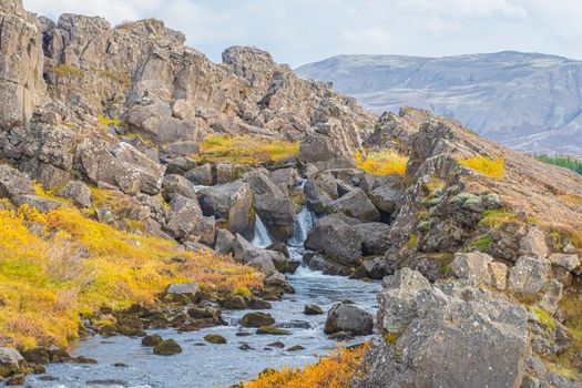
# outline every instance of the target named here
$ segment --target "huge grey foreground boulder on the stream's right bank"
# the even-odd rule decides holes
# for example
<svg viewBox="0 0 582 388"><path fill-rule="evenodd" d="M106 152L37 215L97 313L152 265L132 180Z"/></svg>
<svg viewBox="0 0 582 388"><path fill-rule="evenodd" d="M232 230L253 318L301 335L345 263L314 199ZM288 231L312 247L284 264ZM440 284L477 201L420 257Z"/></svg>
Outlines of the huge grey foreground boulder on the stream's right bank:
<svg viewBox="0 0 582 388"><path fill-rule="evenodd" d="M353 386L520 387L530 353L525 309L502 294L422 279L408 270L385 282L381 295L400 295L408 318L386 325L398 312L396 300L380 297L378 321L388 340L372 344Z"/></svg>

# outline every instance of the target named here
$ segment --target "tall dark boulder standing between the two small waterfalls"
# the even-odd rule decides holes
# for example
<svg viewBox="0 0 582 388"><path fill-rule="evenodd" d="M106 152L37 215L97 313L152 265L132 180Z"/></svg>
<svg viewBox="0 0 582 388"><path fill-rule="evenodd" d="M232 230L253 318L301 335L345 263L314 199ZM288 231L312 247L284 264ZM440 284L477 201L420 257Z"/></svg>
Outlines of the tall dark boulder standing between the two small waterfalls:
<svg viewBox="0 0 582 388"><path fill-rule="evenodd" d="M253 191L256 214L270 236L277 242L286 242L295 227L295 204L288 193L261 170L247 173L245 181Z"/></svg>

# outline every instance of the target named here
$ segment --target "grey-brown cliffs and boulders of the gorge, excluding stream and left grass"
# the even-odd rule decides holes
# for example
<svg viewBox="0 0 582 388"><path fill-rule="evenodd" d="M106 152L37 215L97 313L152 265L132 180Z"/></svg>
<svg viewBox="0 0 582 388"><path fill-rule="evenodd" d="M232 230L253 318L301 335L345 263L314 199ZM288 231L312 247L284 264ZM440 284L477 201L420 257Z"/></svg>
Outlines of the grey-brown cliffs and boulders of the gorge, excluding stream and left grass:
<svg viewBox="0 0 582 388"><path fill-rule="evenodd" d="M264 278L254 294L171 284L156 307L102 308L115 323L90 328L196 330L224 324L219 308L269 308L294 292L285 274L299 263L286 244L306 207L317 219L303 263L382 282L375 317L346 300L327 312L326 334L375 333L353 387L580 386L580 175L426 111L377 118L265 51L228 48L216 64L184 42L155 19L111 27L37 17L20 0L0 4L0 208L72 205L182 251L232 255ZM213 136L298 152L208 162L200 156ZM386 150L407 161L404 174L358 160ZM252 243L258 221L266 247ZM257 334L290 335L273 324L264 313L243 319ZM182 351L173 339L146 338L157 355ZM59 360L64 350L45 345L38 354L1 347L0 377Z"/></svg>

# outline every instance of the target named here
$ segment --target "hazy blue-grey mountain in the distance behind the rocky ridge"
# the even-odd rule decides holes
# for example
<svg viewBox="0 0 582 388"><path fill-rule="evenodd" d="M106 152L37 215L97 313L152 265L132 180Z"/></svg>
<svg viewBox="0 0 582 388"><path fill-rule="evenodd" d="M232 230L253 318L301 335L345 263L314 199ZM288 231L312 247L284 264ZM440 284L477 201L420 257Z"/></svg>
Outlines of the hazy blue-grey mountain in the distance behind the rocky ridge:
<svg viewBox="0 0 582 388"><path fill-rule="evenodd" d="M582 155L582 61L513 51L338 55L296 72L376 112L423 108L517 150Z"/></svg>

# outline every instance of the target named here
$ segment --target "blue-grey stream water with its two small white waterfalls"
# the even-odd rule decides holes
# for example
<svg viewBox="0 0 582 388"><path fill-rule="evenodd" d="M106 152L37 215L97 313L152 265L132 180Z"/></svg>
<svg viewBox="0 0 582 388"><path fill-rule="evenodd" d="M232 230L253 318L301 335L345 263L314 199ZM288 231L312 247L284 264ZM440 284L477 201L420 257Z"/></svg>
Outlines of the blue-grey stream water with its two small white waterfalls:
<svg viewBox="0 0 582 388"><path fill-rule="evenodd" d="M303 243L313 227L316 216L304 207L297 216L295 233L289 239L289 253L295 258L303 255ZM253 243L267 246L270 238L265 225L257 217L256 237ZM268 242L268 244L267 244ZM48 367L50 376L57 381L43 381L39 376L29 378L32 387L228 387L241 380L255 378L265 368L283 366L300 367L317 361L337 343L329 340L323 331L326 315L304 315L305 304L319 305L327 312L336 302L353 300L357 306L375 313L378 283L365 283L340 276L328 276L302 266L294 275L287 276L296 294L286 295L282 302L273 303L268 310L276 319L275 326L292 331L288 336L256 335L254 329L243 328L243 312L223 310L226 326L205 328L200 331L177 333L175 329L150 330L164 339L174 338L182 346L180 355L163 357L152 354L151 348L141 346L141 338L93 336L79 343L73 356L83 355L99 360L96 365L53 364ZM236 336L239 331L249 336ZM224 336L227 344L212 345L203 337L207 334ZM358 344L358 337L346 345ZM285 348L269 347L268 344L282 341ZM248 344L252 349L238 347ZM305 349L288 351L292 346L300 345ZM121 363L121 365L120 365ZM115 366L118 365L118 366Z"/></svg>

